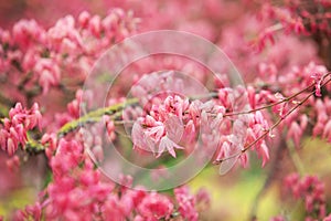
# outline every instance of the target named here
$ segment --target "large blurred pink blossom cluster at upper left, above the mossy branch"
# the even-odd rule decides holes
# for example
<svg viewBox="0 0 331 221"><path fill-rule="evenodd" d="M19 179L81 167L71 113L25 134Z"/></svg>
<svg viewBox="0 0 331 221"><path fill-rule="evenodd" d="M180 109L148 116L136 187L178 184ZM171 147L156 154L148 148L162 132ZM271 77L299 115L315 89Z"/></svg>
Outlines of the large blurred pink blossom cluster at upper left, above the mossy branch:
<svg viewBox="0 0 331 221"><path fill-rule="evenodd" d="M84 11L75 20L60 19L45 30L34 20L21 20L12 31L0 29L0 73L25 92L41 86L45 95L63 77L84 77L105 49L136 30L131 13L114 9L105 18ZM25 80L15 82L18 76Z"/></svg>

